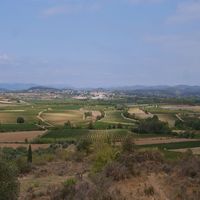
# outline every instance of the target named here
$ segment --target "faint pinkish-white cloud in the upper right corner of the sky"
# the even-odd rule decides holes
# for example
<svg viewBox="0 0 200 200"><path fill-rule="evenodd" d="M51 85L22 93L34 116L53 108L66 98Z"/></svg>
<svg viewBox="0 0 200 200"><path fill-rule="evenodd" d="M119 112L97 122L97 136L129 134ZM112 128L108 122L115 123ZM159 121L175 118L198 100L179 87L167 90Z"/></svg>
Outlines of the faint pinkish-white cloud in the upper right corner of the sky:
<svg viewBox="0 0 200 200"><path fill-rule="evenodd" d="M200 20L200 1L188 1L177 6L174 15L167 20L168 23L185 23Z"/></svg>

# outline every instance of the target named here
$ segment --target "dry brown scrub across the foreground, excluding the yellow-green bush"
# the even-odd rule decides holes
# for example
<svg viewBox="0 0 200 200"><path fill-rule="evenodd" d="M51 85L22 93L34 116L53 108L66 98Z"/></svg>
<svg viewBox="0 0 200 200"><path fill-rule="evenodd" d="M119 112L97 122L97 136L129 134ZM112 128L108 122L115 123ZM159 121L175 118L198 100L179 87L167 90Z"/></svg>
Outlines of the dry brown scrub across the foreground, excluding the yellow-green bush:
<svg viewBox="0 0 200 200"><path fill-rule="evenodd" d="M59 151L62 153L62 151ZM65 151L66 152L66 151ZM20 178L20 200L197 200L200 159L187 152L176 163L165 161L158 151L121 153L99 173L91 173L92 155L82 154L35 165Z"/></svg>

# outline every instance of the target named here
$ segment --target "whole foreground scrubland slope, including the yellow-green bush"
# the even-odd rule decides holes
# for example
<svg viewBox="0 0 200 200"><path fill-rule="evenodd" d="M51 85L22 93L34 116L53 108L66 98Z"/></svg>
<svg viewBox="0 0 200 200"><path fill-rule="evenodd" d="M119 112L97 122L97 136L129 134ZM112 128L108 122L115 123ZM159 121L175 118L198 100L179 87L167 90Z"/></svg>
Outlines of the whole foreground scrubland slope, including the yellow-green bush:
<svg viewBox="0 0 200 200"><path fill-rule="evenodd" d="M131 136L120 147L85 140L64 149L51 146L36 150L33 162L28 164L25 150L18 151L21 157L15 164L21 200L200 198L200 158L191 151L182 154L138 149ZM4 162L14 156L13 152L1 155Z"/></svg>

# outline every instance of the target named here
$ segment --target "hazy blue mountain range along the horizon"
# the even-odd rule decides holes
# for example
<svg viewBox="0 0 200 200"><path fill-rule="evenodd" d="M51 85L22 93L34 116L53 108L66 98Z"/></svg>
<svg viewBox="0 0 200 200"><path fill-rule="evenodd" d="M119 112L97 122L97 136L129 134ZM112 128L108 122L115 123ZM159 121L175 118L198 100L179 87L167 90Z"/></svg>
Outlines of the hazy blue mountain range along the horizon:
<svg viewBox="0 0 200 200"><path fill-rule="evenodd" d="M36 84L23 84L23 83L0 83L0 92L8 91L26 91L26 92L63 92L69 90L88 90L88 91L118 91L128 95L139 96L200 96L200 86L188 85L158 85L158 86L124 86L124 87L111 87L111 88L81 88L74 89L73 87L65 87L64 85L53 86L40 86Z"/></svg>

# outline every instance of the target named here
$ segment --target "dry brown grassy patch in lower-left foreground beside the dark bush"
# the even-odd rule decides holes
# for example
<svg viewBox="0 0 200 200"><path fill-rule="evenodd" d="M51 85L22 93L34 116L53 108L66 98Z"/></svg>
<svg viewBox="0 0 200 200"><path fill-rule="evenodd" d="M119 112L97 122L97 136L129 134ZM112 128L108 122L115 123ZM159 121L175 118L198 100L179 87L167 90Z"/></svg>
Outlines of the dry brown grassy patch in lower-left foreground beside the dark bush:
<svg viewBox="0 0 200 200"><path fill-rule="evenodd" d="M35 194L33 199L51 199L48 190L51 186L60 186L69 178L79 179L79 174L83 178L87 176L89 165L85 162L74 161L53 161L45 165L35 166L30 174L20 178L20 200L28 198L30 191ZM41 195L38 195L41 194Z"/></svg>

